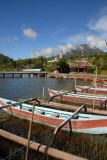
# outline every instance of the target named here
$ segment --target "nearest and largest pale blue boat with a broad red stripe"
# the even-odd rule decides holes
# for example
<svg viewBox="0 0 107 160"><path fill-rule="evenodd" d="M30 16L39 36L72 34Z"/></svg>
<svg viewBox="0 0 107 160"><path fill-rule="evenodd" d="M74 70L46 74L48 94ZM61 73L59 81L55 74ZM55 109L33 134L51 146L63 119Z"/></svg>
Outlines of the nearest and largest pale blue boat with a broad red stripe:
<svg viewBox="0 0 107 160"><path fill-rule="evenodd" d="M30 119L32 107L32 105L22 102L16 103L15 101L0 98L1 109L21 118ZM73 112L35 106L33 121L56 127L66 121L66 119L69 120L71 115L74 115ZM107 116L78 113L72 116L72 119L70 119L69 122L71 124L72 131L75 132L90 134L107 133ZM67 123L63 129L69 130L69 123Z"/></svg>

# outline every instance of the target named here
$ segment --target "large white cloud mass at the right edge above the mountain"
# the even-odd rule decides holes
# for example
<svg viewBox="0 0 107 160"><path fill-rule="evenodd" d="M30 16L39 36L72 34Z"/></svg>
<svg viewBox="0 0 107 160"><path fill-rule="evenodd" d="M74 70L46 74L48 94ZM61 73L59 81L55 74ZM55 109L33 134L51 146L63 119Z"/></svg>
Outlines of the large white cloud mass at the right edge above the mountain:
<svg viewBox="0 0 107 160"><path fill-rule="evenodd" d="M107 6L101 9L97 18L90 20L88 29L92 33L86 37L91 47L107 48Z"/></svg>

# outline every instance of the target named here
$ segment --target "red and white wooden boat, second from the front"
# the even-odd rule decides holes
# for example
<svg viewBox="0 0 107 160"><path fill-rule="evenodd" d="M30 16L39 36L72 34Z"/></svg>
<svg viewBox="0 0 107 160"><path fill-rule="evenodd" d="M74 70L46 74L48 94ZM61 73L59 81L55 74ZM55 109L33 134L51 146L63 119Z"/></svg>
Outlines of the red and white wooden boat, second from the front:
<svg viewBox="0 0 107 160"><path fill-rule="evenodd" d="M56 90L51 90L48 89L50 96L57 96L56 98L64 100L64 101L72 101L72 102L81 102L81 103L87 103L87 104L93 104L93 100L95 100L96 105L101 105L107 97L106 96L94 96L94 95L89 95L89 94L84 94L84 93L66 93L64 91L56 91Z"/></svg>

